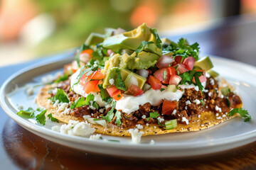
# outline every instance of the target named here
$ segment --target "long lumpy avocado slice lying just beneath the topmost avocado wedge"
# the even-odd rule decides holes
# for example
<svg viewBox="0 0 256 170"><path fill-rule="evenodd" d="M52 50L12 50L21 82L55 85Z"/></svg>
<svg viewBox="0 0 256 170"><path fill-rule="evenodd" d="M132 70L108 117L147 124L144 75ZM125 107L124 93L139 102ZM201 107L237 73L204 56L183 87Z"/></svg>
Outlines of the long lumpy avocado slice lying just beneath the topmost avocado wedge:
<svg viewBox="0 0 256 170"><path fill-rule="evenodd" d="M155 55L151 52L139 52L136 56L136 53L132 55L113 55L109 60L105 62L105 67L102 69L103 74L107 74L109 69L112 67L119 67L122 69L148 69L149 67L154 66L157 60L159 60L159 55Z"/></svg>

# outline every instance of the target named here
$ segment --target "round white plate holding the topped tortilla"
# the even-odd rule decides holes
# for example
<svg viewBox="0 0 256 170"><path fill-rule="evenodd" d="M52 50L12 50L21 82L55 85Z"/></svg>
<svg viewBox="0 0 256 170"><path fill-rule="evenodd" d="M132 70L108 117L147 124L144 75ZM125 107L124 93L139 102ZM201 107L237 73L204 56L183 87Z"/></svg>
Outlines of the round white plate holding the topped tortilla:
<svg viewBox="0 0 256 170"><path fill-rule="evenodd" d="M234 118L213 128L198 132L142 137L142 142L135 145L131 142L130 137L110 137L103 135L104 139L120 141L110 142L89 140L87 137L63 135L50 130L54 123L47 122L46 126L43 127L36 124L34 120L26 120L16 115L18 106L20 105L25 109L29 106L37 108L34 98L36 92L40 89L40 87L35 88L35 95L28 97L24 92L24 88L14 91L16 84L18 87L22 87L25 84L40 84L42 76L53 74L57 70L60 71L64 64L73 60L72 58L53 63L39 64L28 69L23 69L11 76L1 87L1 106L19 125L40 137L68 147L101 154L124 157L187 157L220 152L255 141L256 68L248 64L220 57L211 57L211 59L215 65L215 71L219 72L225 79L228 79L229 83L235 86L236 91L242 97L244 103L243 108L247 109L250 115L252 115L252 121L250 123L244 123L241 118ZM154 145L149 145L151 140L154 140Z"/></svg>

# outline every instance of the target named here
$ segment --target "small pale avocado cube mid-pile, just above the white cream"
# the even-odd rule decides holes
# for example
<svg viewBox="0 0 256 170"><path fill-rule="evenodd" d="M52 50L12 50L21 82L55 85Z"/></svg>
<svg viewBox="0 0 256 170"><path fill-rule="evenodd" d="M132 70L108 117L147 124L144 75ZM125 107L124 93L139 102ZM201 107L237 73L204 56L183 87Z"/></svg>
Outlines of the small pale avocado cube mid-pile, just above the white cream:
<svg viewBox="0 0 256 170"><path fill-rule="evenodd" d="M144 84L146 82L146 79L144 77L139 76L138 74L135 74L134 72L131 72L127 78L124 80L125 86L129 88L132 84L139 86L140 89L143 88Z"/></svg>

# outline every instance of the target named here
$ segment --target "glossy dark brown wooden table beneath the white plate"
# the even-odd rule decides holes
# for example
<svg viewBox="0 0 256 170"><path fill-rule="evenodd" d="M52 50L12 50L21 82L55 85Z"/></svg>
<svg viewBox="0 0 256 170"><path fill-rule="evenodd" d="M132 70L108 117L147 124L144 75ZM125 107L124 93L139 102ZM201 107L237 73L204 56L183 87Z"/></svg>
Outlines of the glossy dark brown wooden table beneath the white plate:
<svg viewBox="0 0 256 170"><path fill-rule="evenodd" d="M198 41L203 54L228 57L256 66L256 21L229 18L201 33L184 35ZM178 37L172 37L178 40ZM65 57L60 54L43 60ZM35 60L0 67L0 85ZM256 142L233 150L180 159L137 159L82 152L49 142L21 128L0 108L0 169L256 169Z"/></svg>

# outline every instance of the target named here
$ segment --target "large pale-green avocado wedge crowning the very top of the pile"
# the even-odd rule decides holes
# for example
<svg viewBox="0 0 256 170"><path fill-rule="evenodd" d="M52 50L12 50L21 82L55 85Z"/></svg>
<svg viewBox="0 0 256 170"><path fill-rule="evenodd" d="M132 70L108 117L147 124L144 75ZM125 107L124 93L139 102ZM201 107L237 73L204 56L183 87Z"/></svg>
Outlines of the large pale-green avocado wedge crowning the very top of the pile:
<svg viewBox="0 0 256 170"><path fill-rule="evenodd" d="M119 49L136 50L143 40L154 42L153 44L148 45L144 49L145 51L153 52L156 55L161 56L161 49L156 47L156 38L154 34L151 33L150 28L146 26L146 23L134 30L106 38L102 42L102 46L113 50L114 52L118 52Z"/></svg>

